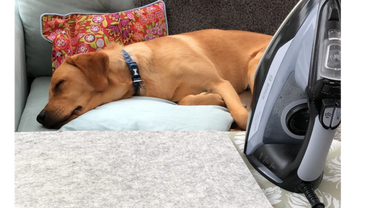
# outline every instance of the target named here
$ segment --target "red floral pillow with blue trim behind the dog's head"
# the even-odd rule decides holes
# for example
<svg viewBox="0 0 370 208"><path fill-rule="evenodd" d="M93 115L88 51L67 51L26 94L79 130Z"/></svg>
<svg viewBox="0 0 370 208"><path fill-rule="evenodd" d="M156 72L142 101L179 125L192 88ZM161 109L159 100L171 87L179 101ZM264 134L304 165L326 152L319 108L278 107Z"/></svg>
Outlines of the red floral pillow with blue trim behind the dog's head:
<svg viewBox="0 0 370 208"><path fill-rule="evenodd" d="M73 54L103 49L110 42L128 45L168 34L163 1L116 13L44 13L41 35L52 43L52 71Z"/></svg>

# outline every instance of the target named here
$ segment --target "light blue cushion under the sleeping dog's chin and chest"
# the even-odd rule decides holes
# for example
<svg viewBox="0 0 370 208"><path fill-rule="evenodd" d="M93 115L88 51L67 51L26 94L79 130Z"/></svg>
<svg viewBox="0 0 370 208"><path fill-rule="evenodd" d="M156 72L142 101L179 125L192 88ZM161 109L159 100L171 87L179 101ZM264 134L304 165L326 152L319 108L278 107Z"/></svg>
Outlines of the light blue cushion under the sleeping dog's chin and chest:
<svg viewBox="0 0 370 208"><path fill-rule="evenodd" d="M134 96L101 105L60 128L73 130L219 130L234 119L221 106L182 106L168 100Z"/></svg>

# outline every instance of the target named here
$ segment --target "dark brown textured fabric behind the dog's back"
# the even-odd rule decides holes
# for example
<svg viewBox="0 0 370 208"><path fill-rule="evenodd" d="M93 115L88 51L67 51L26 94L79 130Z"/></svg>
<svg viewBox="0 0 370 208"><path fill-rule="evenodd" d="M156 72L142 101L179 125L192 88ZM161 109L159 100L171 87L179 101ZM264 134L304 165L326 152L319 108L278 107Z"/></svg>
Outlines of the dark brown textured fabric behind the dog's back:
<svg viewBox="0 0 370 208"><path fill-rule="evenodd" d="M133 0L136 7L153 0ZM163 0L169 34L217 28L273 35L299 0Z"/></svg>

